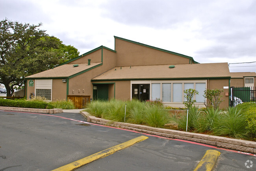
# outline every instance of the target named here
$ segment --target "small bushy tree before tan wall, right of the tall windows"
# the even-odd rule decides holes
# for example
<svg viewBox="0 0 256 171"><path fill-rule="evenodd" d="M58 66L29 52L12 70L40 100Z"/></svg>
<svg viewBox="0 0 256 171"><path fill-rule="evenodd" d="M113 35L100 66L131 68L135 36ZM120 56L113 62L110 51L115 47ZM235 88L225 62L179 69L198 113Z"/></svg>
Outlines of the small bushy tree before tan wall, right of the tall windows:
<svg viewBox="0 0 256 171"><path fill-rule="evenodd" d="M223 102L223 100L221 99L221 92L223 92L222 89L213 89L213 90L209 90L206 89L204 90L204 97L206 98L204 100L204 105L206 106L206 108L214 108L217 109L219 108L219 105L221 104L221 102Z"/></svg>

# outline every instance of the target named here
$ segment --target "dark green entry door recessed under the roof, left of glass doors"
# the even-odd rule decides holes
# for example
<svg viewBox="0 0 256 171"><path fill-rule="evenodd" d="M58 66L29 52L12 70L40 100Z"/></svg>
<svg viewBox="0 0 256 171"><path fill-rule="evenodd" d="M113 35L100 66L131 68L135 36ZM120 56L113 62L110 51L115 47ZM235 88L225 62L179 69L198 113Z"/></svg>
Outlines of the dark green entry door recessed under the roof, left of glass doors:
<svg viewBox="0 0 256 171"><path fill-rule="evenodd" d="M108 84L94 84L93 85L93 99L94 100L108 100Z"/></svg>

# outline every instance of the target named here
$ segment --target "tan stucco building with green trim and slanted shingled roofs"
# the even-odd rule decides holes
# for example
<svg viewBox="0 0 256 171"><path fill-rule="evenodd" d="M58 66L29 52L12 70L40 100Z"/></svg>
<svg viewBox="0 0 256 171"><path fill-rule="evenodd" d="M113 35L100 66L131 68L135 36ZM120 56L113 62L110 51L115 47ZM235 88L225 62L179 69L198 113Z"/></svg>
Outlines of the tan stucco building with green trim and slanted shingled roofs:
<svg viewBox="0 0 256 171"><path fill-rule="evenodd" d="M223 89L221 108L228 107L228 63L199 64L192 57L132 40L115 38L115 50L100 46L59 66L26 77L26 96L51 101L68 95L91 99L160 99L184 107L184 90L193 88L196 105L204 107L204 90ZM235 82L239 80L234 79ZM255 85L254 85L255 86Z"/></svg>

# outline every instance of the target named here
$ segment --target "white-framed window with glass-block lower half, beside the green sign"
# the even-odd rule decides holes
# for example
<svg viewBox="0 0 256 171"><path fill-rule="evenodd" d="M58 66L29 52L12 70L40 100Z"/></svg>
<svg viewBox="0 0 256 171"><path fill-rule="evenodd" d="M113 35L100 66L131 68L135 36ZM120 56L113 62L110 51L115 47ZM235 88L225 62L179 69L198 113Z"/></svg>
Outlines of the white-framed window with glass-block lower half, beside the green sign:
<svg viewBox="0 0 256 171"><path fill-rule="evenodd" d="M35 96L45 97L52 100L52 79L35 80Z"/></svg>

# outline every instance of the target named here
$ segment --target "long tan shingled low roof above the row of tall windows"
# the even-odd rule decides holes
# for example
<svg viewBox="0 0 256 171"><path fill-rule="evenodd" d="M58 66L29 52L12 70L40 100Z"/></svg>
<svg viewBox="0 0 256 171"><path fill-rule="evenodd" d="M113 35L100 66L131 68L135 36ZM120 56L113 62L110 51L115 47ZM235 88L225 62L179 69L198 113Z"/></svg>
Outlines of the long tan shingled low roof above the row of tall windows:
<svg viewBox="0 0 256 171"><path fill-rule="evenodd" d="M228 63L115 67L91 81L230 78Z"/></svg>

